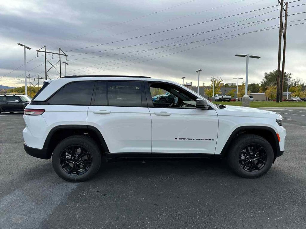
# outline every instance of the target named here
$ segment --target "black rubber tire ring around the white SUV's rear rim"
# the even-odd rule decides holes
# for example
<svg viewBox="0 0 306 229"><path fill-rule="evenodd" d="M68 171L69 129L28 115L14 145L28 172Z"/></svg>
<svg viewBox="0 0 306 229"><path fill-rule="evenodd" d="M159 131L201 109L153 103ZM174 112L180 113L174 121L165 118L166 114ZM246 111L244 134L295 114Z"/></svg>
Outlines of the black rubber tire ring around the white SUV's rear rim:
<svg viewBox="0 0 306 229"><path fill-rule="evenodd" d="M66 173L61 165L60 165L60 155L62 151L71 145L78 145L86 148L91 153L91 165L87 172L82 175L70 175ZM99 147L93 140L86 136L71 136L62 140L54 149L52 154L52 166L54 171L60 176L62 179L70 181L70 182L82 182L90 179L94 176L101 165L101 153L99 151Z"/></svg>

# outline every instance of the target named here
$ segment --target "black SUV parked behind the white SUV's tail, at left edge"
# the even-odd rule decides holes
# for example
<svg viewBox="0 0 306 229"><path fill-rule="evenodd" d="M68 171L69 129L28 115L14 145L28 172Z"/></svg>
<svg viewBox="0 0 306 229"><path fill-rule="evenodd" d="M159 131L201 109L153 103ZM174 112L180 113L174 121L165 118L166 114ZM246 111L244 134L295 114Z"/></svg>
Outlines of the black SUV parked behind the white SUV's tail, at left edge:
<svg viewBox="0 0 306 229"><path fill-rule="evenodd" d="M0 95L0 113L1 112L22 112L26 105L31 101L30 96L24 94L4 94Z"/></svg>

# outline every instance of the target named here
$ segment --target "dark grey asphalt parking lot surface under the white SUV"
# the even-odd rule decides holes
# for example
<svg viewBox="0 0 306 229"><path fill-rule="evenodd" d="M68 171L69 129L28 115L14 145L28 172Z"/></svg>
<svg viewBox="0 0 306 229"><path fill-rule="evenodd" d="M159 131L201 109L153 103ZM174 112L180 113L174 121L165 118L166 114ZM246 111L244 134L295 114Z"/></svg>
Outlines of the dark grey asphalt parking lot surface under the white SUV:
<svg viewBox="0 0 306 229"><path fill-rule="evenodd" d="M306 228L306 109L274 111L285 153L260 178L225 161L124 161L78 184L26 154L22 115L3 113L0 228Z"/></svg>

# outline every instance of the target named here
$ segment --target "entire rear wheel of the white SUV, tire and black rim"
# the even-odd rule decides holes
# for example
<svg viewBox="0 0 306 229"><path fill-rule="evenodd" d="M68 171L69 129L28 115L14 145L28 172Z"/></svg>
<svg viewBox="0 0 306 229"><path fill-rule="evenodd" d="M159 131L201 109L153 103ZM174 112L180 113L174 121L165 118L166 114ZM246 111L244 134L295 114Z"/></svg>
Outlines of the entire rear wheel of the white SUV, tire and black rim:
<svg viewBox="0 0 306 229"><path fill-rule="evenodd" d="M81 158L77 158L78 156ZM100 165L99 147L91 138L83 135L65 138L55 147L52 154L54 171L62 179L70 182L82 182L90 179L98 172ZM62 168L62 166L65 167ZM72 172L70 172L71 170Z"/></svg>

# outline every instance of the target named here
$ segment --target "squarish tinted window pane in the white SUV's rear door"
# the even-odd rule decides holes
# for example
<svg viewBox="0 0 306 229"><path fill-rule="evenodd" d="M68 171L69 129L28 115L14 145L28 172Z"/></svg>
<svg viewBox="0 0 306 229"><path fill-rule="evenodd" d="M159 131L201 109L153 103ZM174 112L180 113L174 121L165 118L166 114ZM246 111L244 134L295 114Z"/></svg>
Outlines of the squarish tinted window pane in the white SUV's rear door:
<svg viewBox="0 0 306 229"><path fill-rule="evenodd" d="M141 107L140 82L108 82L108 105Z"/></svg>

